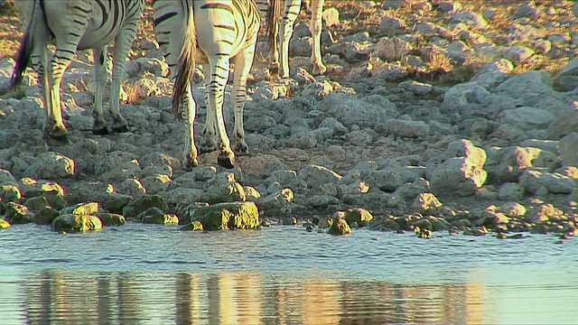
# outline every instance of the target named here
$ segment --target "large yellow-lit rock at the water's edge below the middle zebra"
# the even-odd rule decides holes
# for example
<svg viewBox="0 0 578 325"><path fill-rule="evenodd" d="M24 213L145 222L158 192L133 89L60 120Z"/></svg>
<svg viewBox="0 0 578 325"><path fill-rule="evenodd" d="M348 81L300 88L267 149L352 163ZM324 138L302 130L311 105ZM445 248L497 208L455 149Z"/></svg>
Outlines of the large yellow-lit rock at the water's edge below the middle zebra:
<svg viewBox="0 0 578 325"><path fill-rule="evenodd" d="M259 211L254 202L223 202L195 212L204 230L256 229Z"/></svg>

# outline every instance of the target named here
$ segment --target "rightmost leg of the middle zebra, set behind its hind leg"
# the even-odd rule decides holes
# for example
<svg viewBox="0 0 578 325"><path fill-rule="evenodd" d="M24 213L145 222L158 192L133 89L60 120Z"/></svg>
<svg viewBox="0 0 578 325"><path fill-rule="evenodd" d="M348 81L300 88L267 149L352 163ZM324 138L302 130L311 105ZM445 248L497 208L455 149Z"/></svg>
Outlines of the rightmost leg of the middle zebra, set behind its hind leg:
<svg viewBox="0 0 578 325"><path fill-rule="evenodd" d="M255 40L256 42L256 40ZM235 107L235 136L234 148L238 154L247 154L249 147L245 142L245 129L243 127L243 107L247 100L247 76L253 64L255 56L255 42L238 52L235 57L235 74L233 77L233 105Z"/></svg>

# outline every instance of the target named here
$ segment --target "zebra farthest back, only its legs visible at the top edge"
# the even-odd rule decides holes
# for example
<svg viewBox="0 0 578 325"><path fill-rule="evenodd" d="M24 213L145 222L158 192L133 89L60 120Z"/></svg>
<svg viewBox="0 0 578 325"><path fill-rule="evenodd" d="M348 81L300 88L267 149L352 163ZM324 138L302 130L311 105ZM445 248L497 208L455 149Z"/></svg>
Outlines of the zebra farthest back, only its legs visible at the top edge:
<svg viewBox="0 0 578 325"><path fill-rule="evenodd" d="M294 23L299 15L302 0L256 0L261 14L266 15L269 35L269 70L278 73L281 78L289 77L289 41L293 35ZM312 74L320 75L327 71L322 61L321 34L324 0L311 0L312 12L310 31L313 37L311 61ZM308 4L305 1L305 4ZM282 10L284 8L283 16ZM283 23L279 23L279 21ZM279 62L281 61L281 62Z"/></svg>

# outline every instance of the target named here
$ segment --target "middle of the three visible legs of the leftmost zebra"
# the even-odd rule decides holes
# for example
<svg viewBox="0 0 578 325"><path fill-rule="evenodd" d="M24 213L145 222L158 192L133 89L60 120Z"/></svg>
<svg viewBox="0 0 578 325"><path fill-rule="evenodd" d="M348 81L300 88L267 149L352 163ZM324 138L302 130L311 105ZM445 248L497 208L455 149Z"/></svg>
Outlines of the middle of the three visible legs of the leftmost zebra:
<svg viewBox="0 0 578 325"><path fill-rule="evenodd" d="M94 49L92 55L94 57L94 79L96 83L94 108L92 109L92 117L94 117L92 133L94 135L107 135L107 123L102 112L102 93L107 86L107 45Z"/></svg>

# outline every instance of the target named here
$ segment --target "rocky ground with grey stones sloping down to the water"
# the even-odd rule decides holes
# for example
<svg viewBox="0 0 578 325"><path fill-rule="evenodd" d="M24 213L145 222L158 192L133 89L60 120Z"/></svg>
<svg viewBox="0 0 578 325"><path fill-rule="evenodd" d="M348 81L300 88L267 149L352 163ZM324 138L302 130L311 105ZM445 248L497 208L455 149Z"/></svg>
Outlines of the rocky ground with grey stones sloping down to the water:
<svg viewBox="0 0 578 325"><path fill-rule="evenodd" d="M176 220L170 215L183 223L200 202L247 200L264 222L308 222L310 230L347 217L349 226L415 230L420 237L435 230L573 237L578 5L327 0L325 8L327 73L307 72L305 14L291 43L291 79L267 75L263 37L245 110L249 155L223 170L215 153L206 153L185 172L184 126L170 112L168 67L150 13L126 65L121 112L130 132L91 134L91 55L79 52L62 87L71 140L62 144L42 138L33 71L16 91L6 87L21 33L5 3L5 220L49 223L61 208L69 213L82 202L98 202L90 214L144 220L139 213L154 201L154 213L166 217L159 222ZM203 89L200 83L197 98ZM201 108L197 130L205 116Z"/></svg>

